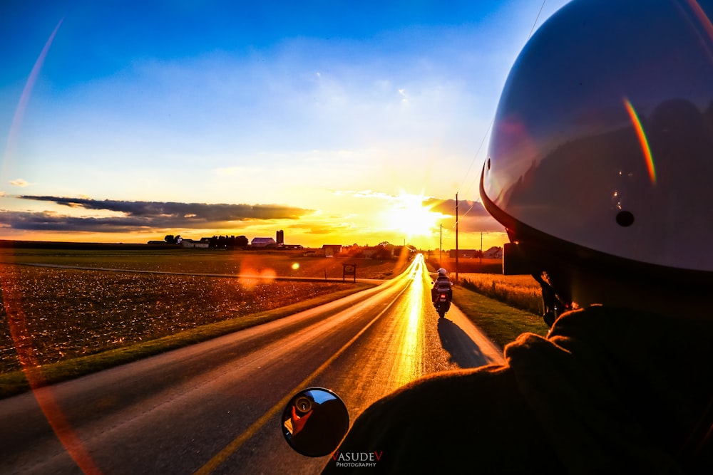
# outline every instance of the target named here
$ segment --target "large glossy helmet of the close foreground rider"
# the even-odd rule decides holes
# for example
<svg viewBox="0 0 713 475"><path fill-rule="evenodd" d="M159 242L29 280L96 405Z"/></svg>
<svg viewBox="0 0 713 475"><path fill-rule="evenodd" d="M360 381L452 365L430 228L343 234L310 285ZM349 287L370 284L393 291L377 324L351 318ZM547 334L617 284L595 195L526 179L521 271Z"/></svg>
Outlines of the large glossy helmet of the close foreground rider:
<svg viewBox="0 0 713 475"><path fill-rule="evenodd" d="M481 175L513 242L710 278L712 21L713 0L574 0L535 32Z"/></svg>

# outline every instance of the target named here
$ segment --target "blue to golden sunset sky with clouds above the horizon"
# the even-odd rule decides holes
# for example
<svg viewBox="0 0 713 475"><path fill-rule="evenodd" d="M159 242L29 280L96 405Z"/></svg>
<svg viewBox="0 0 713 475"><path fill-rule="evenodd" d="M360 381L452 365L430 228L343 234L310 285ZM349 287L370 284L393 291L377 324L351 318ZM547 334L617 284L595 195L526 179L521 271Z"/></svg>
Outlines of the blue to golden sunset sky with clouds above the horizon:
<svg viewBox="0 0 713 475"><path fill-rule="evenodd" d="M498 244L489 126L565 3L5 2L0 239L451 249L458 192Z"/></svg>

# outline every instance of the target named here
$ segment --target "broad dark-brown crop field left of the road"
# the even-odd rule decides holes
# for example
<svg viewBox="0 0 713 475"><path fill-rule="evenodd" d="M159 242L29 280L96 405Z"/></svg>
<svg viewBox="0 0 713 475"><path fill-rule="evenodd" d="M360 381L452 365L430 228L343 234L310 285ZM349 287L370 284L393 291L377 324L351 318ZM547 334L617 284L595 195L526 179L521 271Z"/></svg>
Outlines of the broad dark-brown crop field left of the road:
<svg viewBox="0 0 713 475"><path fill-rule="evenodd" d="M357 278L389 278L405 267L300 253L1 249L0 373L20 369L16 348L29 349L33 362L46 365L353 288L349 278L346 283L270 280L342 278L343 263L356 264Z"/></svg>

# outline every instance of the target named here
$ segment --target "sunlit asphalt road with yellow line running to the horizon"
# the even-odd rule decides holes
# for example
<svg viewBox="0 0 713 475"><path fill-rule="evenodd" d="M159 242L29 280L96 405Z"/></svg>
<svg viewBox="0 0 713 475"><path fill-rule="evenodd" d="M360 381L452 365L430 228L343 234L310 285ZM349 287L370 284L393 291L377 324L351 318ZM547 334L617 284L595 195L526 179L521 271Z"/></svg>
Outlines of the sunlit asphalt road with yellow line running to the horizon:
<svg viewBox="0 0 713 475"><path fill-rule="evenodd" d="M0 474L314 474L280 415L327 387L353 422L421 375L501 362L455 306L430 303L423 259L319 308L0 401Z"/></svg>

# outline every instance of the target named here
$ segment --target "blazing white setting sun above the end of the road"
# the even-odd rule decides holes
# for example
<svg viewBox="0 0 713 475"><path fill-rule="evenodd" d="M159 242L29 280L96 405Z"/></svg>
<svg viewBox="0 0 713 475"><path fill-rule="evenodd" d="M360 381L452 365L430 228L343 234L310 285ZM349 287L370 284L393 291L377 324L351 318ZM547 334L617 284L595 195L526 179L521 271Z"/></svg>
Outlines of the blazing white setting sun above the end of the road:
<svg viewBox="0 0 713 475"><path fill-rule="evenodd" d="M425 201L419 194L401 193L394 197L391 209L384 214L386 226L408 237L431 236L443 214L432 211L433 204L424 206Z"/></svg>

